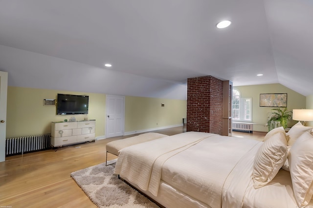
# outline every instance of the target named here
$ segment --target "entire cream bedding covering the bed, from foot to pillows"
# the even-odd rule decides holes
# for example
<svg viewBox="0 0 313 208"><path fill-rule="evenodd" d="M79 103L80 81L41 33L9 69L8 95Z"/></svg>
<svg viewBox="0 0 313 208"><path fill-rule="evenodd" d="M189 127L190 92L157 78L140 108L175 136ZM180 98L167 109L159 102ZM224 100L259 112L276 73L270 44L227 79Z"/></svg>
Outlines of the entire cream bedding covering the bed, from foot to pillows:
<svg viewBox="0 0 313 208"><path fill-rule="evenodd" d="M297 208L285 170L254 189L253 162L261 145L185 132L122 149L115 174L168 208ZM313 208L312 200L306 208Z"/></svg>

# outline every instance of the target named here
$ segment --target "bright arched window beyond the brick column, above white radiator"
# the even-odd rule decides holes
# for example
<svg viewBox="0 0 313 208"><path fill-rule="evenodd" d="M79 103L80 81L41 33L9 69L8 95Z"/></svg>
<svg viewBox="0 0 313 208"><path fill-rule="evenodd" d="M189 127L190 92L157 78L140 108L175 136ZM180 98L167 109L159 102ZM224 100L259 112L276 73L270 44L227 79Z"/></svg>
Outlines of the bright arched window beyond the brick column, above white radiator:
<svg viewBox="0 0 313 208"><path fill-rule="evenodd" d="M237 121L252 121L252 98L240 97L238 90L233 90L232 117Z"/></svg>

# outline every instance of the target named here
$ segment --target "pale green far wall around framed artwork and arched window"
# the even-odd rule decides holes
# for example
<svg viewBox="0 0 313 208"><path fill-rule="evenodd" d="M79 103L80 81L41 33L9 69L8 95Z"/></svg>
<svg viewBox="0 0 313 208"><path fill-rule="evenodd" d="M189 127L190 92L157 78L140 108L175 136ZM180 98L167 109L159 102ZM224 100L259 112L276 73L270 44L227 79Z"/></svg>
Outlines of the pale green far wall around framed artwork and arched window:
<svg viewBox="0 0 313 208"><path fill-rule="evenodd" d="M306 108L306 96L296 93L295 91L281 84L266 84L266 85L250 85L237 86L233 89L239 90L241 97L252 97L252 122L266 124L271 107L260 107L260 94L264 93L287 93L287 109ZM291 127L296 121L290 120L288 126ZM254 125L254 131L268 132L268 127L265 125Z"/></svg>

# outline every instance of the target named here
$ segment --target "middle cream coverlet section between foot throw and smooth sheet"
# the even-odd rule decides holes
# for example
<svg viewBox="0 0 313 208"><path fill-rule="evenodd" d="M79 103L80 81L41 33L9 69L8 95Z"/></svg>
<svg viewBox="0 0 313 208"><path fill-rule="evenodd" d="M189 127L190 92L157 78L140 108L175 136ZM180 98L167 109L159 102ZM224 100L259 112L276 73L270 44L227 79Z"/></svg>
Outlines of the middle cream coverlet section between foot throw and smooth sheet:
<svg viewBox="0 0 313 208"><path fill-rule="evenodd" d="M169 158L162 180L209 205L221 208L224 182L236 164L259 141L214 135Z"/></svg>

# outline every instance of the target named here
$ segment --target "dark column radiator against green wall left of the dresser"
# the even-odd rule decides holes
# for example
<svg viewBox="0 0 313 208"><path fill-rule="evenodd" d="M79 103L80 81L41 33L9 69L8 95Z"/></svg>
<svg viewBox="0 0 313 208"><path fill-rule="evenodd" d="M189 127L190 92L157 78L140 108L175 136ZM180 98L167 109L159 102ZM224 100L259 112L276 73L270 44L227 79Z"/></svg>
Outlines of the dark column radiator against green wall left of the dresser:
<svg viewBox="0 0 313 208"><path fill-rule="evenodd" d="M50 134L5 139L5 156L49 149Z"/></svg>

